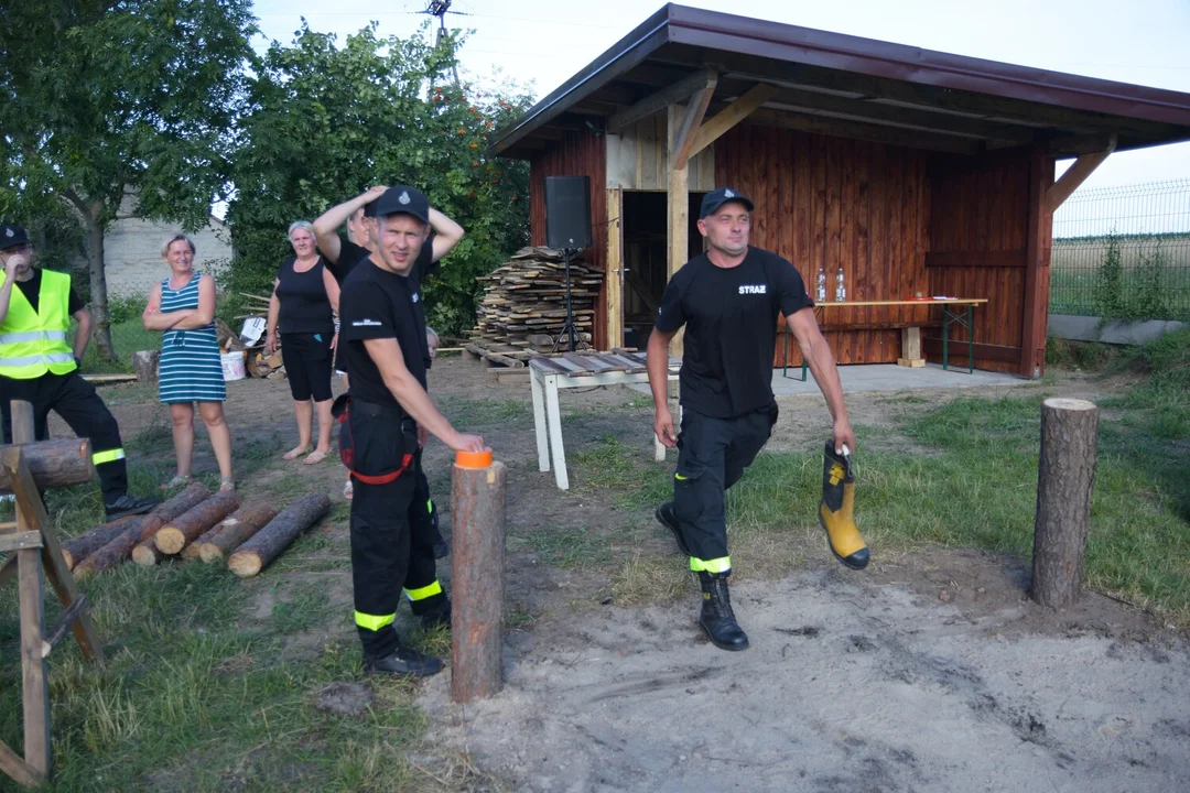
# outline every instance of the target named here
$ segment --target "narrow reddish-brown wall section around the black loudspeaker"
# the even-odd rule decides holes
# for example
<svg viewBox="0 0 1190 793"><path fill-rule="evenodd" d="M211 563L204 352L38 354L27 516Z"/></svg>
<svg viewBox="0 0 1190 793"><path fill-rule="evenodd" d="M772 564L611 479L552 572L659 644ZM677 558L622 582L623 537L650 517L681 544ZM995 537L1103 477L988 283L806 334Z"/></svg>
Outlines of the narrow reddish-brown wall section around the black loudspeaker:
<svg viewBox="0 0 1190 793"><path fill-rule="evenodd" d="M545 177L589 176L591 182L591 247L584 258L607 271L607 145L590 131L568 131L530 161L530 239L545 245ZM594 344L607 350L607 279L595 303Z"/></svg>

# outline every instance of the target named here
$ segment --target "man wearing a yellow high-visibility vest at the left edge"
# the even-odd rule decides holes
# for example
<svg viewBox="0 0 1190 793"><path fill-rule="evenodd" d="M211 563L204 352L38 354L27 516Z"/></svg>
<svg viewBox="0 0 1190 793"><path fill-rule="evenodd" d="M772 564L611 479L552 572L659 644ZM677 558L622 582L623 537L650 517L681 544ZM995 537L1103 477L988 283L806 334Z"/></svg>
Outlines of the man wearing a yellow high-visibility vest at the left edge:
<svg viewBox="0 0 1190 793"><path fill-rule="evenodd" d="M4 440L12 442L10 402L33 405L33 432L50 436L54 410L79 436L90 439L92 461L108 520L148 512L157 503L130 496L124 445L115 417L79 376L90 340L90 313L70 285L70 276L33 268L33 246L20 226L0 225L0 402ZM67 344L70 317L79 322L74 347Z"/></svg>

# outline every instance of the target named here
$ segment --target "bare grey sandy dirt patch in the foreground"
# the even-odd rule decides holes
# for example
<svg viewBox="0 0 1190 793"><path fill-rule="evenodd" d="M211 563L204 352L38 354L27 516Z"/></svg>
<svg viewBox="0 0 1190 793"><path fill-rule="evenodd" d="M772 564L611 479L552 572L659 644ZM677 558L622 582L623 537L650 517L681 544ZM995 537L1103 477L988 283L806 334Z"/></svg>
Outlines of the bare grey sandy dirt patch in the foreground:
<svg viewBox="0 0 1190 793"><path fill-rule="evenodd" d="M963 562L947 573L1002 569ZM497 697L452 706L441 675L420 701L432 739L525 791L1175 789L1190 774L1185 642L1061 618L1031 632L1044 619L1022 618L1001 577L977 617L835 567L746 581L733 590L744 653L706 642L693 591L559 612L509 642Z"/></svg>

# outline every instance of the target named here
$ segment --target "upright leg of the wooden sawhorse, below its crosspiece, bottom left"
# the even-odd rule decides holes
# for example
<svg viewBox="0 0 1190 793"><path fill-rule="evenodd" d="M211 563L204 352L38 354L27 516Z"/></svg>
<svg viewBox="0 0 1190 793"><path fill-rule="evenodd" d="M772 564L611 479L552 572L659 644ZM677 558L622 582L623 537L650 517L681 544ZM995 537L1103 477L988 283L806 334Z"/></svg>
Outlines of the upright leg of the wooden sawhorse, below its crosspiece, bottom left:
<svg viewBox="0 0 1190 793"><path fill-rule="evenodd" d="M19 461L24 465L23 460ZM25 762L38 776L49 779L52 762L50 753L50 681L46 675L45 659L42 656L45 600L42 593L39 553L32 548L18 550L17 566L20 569L18 609L20 611L20 704L25 723Z"/></svg>

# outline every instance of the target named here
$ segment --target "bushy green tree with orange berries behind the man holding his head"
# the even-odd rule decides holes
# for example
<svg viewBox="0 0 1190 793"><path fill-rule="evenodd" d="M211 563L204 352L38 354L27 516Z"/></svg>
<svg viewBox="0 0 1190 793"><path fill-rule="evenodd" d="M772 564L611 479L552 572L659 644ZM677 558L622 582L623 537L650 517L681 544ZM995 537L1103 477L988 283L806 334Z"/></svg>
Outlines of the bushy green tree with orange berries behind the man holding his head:
<svg viewBox="0 0 1190 793"><path fill-rule="evenodd" d="M476 277L528 239L528 170L488 155L493 130L527 96L484 96L446 82L459 39L347 37L305 25L274 43L249 88L244 146L227 221L237 259L227 291L271 288L292 254L286 229L372 184L414 184L466 237L426 284L430 321L459 333L475 320ZM437 88L436 88L437 87Z"/></svg>

